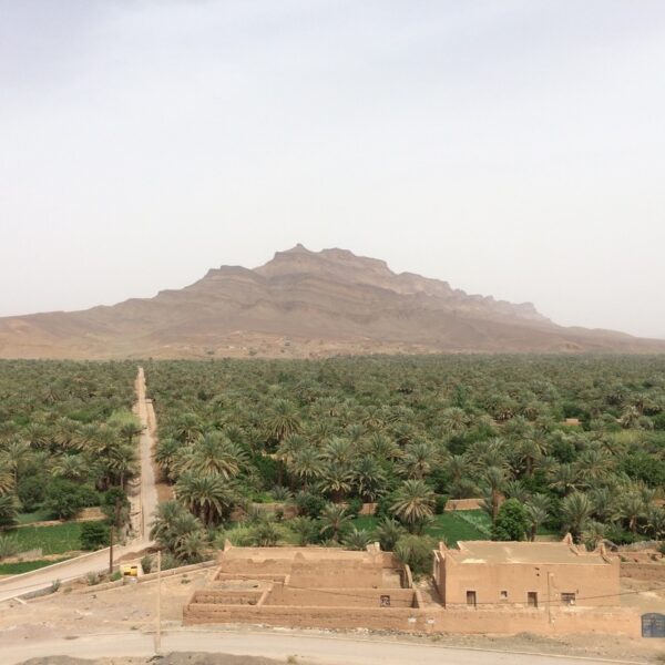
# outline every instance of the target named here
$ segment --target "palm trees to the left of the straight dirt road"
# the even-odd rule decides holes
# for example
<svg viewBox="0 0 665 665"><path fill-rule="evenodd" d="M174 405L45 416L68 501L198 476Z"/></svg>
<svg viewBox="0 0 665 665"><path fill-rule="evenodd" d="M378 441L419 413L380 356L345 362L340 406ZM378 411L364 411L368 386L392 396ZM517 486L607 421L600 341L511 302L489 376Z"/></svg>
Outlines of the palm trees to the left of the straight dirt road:
<svg viewBox="0 0 665 665"><path fill-rule="evenodd" d="M75 514L137 472L132 364L0 361L0 522ZM81 491L79 491L81 490ZM64 508L63 508L64 507ZM66 508L66 510L65 510Z"/></svg>

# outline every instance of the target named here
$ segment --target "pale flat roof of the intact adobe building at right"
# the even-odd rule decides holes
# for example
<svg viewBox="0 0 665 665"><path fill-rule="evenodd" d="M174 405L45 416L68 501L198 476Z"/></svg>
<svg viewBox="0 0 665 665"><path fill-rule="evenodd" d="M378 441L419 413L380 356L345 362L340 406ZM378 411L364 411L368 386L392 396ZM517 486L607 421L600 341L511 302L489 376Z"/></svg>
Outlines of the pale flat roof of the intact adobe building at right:
<svg viewBox="0 0 665 665"><path fill-rule="evenodd" d="M574 563L604 565L607 561L594 552L575 552L571 545L560 543L462 541L459 550L448 550L459 563Z"/></svg>

